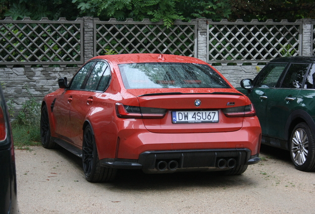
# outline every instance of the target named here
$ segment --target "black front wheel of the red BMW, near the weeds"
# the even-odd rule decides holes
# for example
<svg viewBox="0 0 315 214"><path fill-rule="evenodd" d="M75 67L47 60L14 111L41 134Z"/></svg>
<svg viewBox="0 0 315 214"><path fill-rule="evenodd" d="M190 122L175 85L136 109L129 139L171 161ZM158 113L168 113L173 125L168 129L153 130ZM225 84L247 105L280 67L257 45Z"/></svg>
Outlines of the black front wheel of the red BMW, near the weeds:
<svg viewBox="0 0 315 214"><path fill-rule="evenodd" d="M49 116L47 106L42 108L41 112L41 139L42 146L46 149L55 149L57 144L52 140L51 127L49 124Z"/></svg>

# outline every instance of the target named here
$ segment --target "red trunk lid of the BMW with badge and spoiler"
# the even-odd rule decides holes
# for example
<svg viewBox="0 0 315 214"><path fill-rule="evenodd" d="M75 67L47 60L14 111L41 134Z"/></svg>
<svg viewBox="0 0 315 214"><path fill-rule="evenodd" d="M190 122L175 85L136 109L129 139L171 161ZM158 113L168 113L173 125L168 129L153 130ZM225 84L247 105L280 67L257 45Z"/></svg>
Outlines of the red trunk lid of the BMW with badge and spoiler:
<svg viewBox="0 0 315 214"><path fill-rule="evenodd" d="M202 132L229 132L242 128L243 117L226 117L221 109L227 107L238 107L246 105L246 97L235 89L181 89L178 93L175 89L129 89L130 93L137 96L140 107L153 107L167 109L163 118L143 118L145 127L155 133L202 133ZM205 91L207 93L205 93ZM187 92L187 93L186 93ZM145 94L144 94L145 93ZM199 107L195 106L196 100L201 102ZM233 105L233 106L230 106ZM210 118L216 114L218 122L196 122L181 121L182 118L173 117L175 112L180 111L177 116L187 114L199 115L201 119ZM194 115L195 113L195 115ZM211 113L211 114L209 114ZM209 116L211 115L211 116Z"/></svg>

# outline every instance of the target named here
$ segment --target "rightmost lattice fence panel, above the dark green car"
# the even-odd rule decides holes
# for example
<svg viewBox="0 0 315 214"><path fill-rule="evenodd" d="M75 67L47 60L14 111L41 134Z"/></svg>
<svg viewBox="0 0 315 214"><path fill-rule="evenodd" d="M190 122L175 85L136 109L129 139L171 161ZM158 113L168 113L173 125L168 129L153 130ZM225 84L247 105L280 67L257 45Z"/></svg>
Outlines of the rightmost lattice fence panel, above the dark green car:
<svg viewBox="0 0 315 214"><path fill-rule="evenodd" d="M267 61L301 54L302 22L209 23L208 60L211 62Z"/></svg>

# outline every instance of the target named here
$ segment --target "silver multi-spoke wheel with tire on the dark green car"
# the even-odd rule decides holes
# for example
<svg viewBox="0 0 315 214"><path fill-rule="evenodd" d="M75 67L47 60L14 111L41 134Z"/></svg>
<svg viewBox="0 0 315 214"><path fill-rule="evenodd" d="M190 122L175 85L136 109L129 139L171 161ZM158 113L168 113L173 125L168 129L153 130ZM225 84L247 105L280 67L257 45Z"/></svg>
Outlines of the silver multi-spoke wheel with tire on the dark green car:
<svg viewBox="0 0 315 214"><path fill-rule="evenodd" d="M315 170L315 139L310 126L304 122L297 124L290 138L290 156L296 169Z"/></svg>

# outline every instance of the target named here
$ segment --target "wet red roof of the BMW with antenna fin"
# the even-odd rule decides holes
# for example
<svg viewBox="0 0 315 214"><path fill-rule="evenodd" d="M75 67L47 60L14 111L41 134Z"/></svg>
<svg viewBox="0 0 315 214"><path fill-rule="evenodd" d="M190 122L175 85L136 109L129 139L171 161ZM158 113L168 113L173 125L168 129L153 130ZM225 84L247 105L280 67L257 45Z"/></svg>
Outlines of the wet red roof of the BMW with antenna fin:
<svg viewBox="0 0 315 214"><path fill-rule="evenodd" d="M171 54L113 54L93 57L93 59L105 59L116 62L117 64L139 63L139 62L184 62L207 64L206 62L189 56L171 55Z"/></svg>

